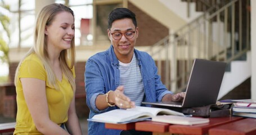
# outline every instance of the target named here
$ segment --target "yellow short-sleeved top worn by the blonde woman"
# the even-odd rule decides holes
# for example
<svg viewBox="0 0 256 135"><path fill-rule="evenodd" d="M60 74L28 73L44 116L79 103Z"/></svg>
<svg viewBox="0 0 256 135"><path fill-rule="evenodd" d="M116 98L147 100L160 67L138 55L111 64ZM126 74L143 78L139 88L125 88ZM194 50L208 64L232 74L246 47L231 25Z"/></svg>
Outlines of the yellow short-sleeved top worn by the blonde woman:
<svg viewBox="0 0 256 135"><path fill-rule="evenodd" d="M73 76L74 68L72 69ZM32 53L23 61L19 69L19 78L37 78L47 82L47 74L42 61L35 53ZM73 99L74 92L69 80L62 75L61 82L57 85L60 89L55 89L46 83L46 97L49 107L49 116L56 124L65 123L68 120L68 110ZM32 116L24 98L21 82L17 82L17 118L14 134L42 134L35 127Z"/></svg>

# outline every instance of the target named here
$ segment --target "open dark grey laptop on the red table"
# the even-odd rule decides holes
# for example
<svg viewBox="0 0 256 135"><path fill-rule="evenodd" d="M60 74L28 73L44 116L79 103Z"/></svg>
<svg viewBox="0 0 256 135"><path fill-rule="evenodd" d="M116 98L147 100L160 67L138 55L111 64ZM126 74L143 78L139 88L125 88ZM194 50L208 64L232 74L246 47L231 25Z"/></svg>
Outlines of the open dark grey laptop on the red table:
<svg viewBox="0 0 256 135"><path fill-rule="evenodd" d="M142 102L153 106L200 107L216 104L226 62L195 59L183 102Z"/></svg>

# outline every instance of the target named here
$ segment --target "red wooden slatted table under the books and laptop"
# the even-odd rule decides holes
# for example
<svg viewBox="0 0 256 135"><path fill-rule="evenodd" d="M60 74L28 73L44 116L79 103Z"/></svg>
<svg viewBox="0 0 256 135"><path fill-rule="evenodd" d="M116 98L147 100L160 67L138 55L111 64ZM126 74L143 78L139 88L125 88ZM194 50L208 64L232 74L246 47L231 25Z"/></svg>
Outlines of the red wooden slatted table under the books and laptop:
<svg viewBox="0 0 256 135"><path fill-rule="evenodd" d="M198 125L174 125L167 123L158 123L151 121L128 123L128 124L110 124L105 127L109 129L148 131L154 135L160 134L256 134L256 119L242 117L223 117L209 118L210 123Z"/></svg>

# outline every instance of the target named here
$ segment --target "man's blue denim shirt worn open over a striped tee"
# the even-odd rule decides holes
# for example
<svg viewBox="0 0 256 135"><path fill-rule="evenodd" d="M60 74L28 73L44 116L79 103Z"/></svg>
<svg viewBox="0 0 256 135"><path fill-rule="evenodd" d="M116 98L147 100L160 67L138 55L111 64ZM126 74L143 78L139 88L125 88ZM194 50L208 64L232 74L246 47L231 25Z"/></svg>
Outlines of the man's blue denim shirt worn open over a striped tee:
<svg viewBox="0 0 256 135"><path fill-rule="evenodd" d="M167 93L173 94L161 82L156 68L155 61L146 53L134 49L135 56L140 66L142 82L145 91L143 101L161 101ZM107 107L105 110L98 110L96 107L96 97L104 95L110 90L115 90L120 85L119 61L115 56L114 48L97 53L90 57L86 62L84 73L86 84L86 102L90 109L89 119L92 116L106 111L118 109L118 107ZM104 123L88 122L88 134L120 134L120 130L106 129Z"/></svg>

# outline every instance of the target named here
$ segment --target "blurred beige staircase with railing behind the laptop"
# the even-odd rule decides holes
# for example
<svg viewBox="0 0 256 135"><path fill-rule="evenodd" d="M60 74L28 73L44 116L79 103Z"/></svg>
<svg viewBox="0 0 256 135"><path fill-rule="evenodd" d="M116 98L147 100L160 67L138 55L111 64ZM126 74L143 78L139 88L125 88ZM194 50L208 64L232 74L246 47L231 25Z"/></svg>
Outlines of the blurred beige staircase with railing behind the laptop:
<svg viewBox="0 0 256 135"><path fill-rule="evenodd" d="M250 70L241 69L250 65L250 12L246 10L250 1L187 1L188 4L196 2L196 10L203 14L182 28L172 31L151 46L148 52L156 60L163 83L174 92L185 90L195 58L227 62L227 71L219 94L221 98L251 74L241 73ZM198 6L203 4L208 6ZM239 63L246 64L238 66L240 69L237 71L236 66ZM234 75L235 73L239 74ZM234 81L228 78L237 79ZM232 85L226 86L227 84Z"/></svg>

